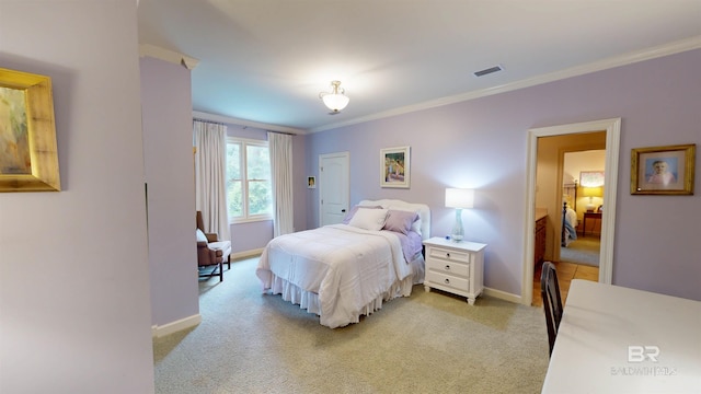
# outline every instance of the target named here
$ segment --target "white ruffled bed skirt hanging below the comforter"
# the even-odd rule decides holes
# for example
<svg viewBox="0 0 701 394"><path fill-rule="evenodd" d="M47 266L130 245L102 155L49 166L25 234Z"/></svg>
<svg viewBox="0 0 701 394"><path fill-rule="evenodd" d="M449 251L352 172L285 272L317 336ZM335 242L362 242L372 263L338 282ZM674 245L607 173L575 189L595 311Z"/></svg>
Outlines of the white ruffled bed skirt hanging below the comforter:
<svg viewBox="0 0 701 394"><path fill-rule="evenodd" d="M382 309L382 303L395 299L398 297L409 297L412 293L414 285L421 285L424 282L425 265L423 255L418 255L414 259L412 265L412 275L407 276L403 280L398 280L377 297L375 300L367 303L354 318L344 325L358 323L361 315L369 315L375 311ZM307 310L309 313L313 313L321 317L321 305L319 302L319 294L311 291L306 291L296 285L272 274L272 286L269 289L271 294L280 294L283 300L299 305L299 308ZM342 325L343 326L343 325Z"/></svg>

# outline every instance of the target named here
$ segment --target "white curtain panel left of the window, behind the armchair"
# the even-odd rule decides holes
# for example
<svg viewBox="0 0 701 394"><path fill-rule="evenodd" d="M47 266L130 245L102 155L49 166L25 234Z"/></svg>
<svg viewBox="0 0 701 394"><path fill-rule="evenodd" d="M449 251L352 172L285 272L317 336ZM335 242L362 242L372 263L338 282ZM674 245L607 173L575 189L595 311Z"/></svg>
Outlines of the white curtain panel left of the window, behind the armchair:
<svg viewBox="0 0 701 394"><path fill-rule="evenodd" d="M195 206L207 232L230 241L227 213L227 126L194 120Z"/></svg>

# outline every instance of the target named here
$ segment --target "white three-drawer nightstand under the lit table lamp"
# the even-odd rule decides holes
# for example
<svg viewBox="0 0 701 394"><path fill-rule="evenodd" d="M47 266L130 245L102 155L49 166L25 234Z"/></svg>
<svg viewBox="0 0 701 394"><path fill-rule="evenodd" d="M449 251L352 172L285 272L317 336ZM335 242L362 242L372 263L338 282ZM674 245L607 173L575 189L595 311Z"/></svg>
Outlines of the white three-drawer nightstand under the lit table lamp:
<svg viewBox="0 0 701 394"><path fill-rule="evenodd" d="M484 289L484 248L476 242L453 242L441 237L424 241L426 246L426 277L424 289L432 288L474 300Z"/></svg>

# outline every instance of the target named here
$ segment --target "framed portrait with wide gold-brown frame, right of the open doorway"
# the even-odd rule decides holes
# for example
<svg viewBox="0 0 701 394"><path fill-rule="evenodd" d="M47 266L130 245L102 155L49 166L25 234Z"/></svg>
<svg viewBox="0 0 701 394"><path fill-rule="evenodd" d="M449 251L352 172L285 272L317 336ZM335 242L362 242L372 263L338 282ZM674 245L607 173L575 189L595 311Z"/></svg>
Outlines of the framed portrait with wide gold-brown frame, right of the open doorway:
<svg viewBox="0 0 701 394"><path fill-rule="evenodd" d="M631 150L632 195L693 195L696 143Z"/></svg>

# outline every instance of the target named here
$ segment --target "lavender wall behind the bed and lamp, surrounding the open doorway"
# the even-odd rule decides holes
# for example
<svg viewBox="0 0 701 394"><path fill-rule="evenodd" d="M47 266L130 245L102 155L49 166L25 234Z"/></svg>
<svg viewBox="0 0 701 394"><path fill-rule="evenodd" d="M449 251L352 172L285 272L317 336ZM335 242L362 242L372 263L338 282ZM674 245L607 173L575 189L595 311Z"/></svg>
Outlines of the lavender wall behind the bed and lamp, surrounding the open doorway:
<svg viewBox="0 0 701 394"><path fill-rule="evenodd" d="M402 198L430 206L433 234L449 233L446 187L474 187L466 236L489 244L485 286L521 292L527 130L621 117L613 282L701 300L701 197L631 196L633 148L699 143L701 50L647 60L463 103L307 136L306 169L319 154L350 152L350 201ZM349 107L346 111L353 111ZM410 189L379 187L379 150L411 146ZM699 162L696 172L699 173ZM318 196L303 202L318 224ZM297 201L301 208L302 202Z"/></svg>

